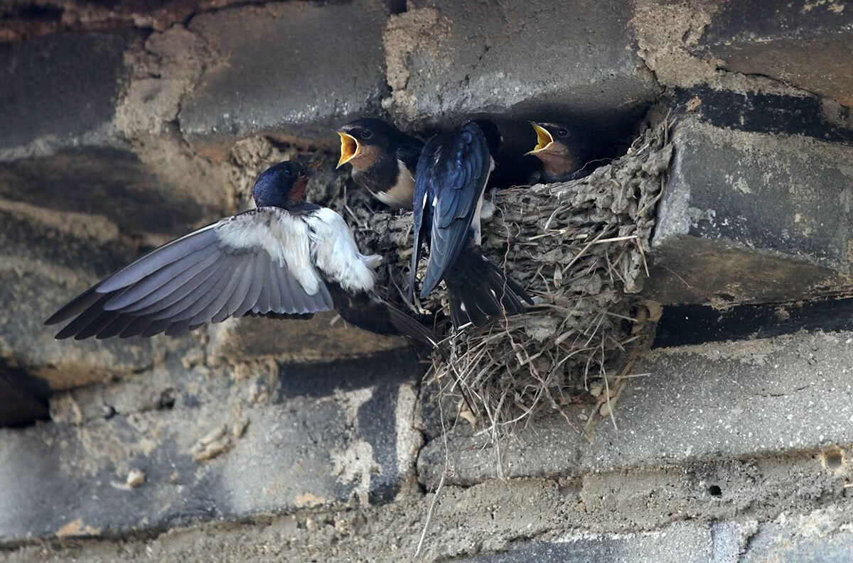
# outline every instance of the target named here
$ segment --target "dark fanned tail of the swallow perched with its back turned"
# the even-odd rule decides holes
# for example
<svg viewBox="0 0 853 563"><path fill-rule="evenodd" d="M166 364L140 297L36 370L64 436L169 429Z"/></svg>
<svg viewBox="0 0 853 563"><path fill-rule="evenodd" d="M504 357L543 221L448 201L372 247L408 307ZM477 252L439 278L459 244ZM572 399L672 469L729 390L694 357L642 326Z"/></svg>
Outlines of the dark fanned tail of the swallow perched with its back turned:
<svg viewBox="0 0 853 563"><path fill-rule="evenodd" d="M450 300L450 318L459 327L467 322L483 326L489 317L525 313L531 296L514 279L468 246L444 278Z"/></svg>

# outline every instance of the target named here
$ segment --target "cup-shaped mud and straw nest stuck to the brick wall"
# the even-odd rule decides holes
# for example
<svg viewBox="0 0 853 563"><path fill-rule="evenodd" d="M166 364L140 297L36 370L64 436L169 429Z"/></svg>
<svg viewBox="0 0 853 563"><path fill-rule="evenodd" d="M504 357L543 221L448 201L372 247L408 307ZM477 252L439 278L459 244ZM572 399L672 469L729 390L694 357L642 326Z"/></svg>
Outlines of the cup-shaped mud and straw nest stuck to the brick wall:
<svg viewBox="0 0 853 563"><path fill-rule="evenodd" d="M496 434L543 413L565 416L563 407L577 402L599 400L601 413L612 415L613 387L627 375L646 323L630 294L647 276L646 250L672 156L668 129L666 120L645 129L623 157L583 179L492 192L496 212L484 222L483 250L537 306L483 329L447 330L444 291L416 307L405 302L410 213L370 209L376 204L361 193L342 200L363 251L385 256L379 284L387 297L432 314L439 333L450 335L428 381L445 404L455 400L462 416Z"/></svg>

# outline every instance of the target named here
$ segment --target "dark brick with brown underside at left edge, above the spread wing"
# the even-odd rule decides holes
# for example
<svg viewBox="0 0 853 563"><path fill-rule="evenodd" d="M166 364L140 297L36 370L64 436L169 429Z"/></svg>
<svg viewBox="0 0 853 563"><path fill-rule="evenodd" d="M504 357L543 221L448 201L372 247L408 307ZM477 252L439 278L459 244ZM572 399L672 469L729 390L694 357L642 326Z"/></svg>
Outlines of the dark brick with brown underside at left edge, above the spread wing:
<svg viewBox="0 0 853 563"><path fill-rule="evenodd" d="M161 138L137 146L119 127L121 96L138 95L131 85L145 82L133 81L125 58L143 49L132 31L58 33L0 46L0 198L102 215L125 232L175 236L222 213L224 190L211 189L219 178L196 179L200 170L181 169L180 145ZM133 110L125 108L125 122L159 103L160 89L150 85L156 82L148 80L148 97ZM167 154L161 146L170 147Z"/></svg>

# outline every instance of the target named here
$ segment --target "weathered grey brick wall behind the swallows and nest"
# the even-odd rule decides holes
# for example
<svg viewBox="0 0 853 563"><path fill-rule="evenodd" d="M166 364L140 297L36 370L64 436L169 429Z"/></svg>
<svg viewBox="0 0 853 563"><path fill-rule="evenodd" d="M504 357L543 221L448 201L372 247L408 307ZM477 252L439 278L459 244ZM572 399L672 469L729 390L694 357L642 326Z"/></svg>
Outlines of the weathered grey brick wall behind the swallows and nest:
<svg viewBox="0 0 853 563"><path fill-rule="evenodd" d="M397 561L427 521L429 561L853 558L853 4L0 14L0 561ZM405 342L328 316L42 325L350 118L488 114L512 150L526 119L571 119L615 156L656 102L678 117L643 295L661 314L618 428L593 405L497 443L442 423ZM343 186L326 168L315 193Z"/></svg>

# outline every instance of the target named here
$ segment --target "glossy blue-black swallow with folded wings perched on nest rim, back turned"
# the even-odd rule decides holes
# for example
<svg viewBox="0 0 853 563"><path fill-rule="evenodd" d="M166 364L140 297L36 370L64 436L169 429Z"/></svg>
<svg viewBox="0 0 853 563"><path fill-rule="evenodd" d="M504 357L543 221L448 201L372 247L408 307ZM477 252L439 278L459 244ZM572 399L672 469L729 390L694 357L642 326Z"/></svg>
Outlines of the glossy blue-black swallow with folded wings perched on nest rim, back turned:
<svg viewBox="0 0 853 563"><path fill-rule="evenodd" d="M490 121L467 121L446 135L432 137L418 162L409 299L415 298L415 273L421 243L426 242L430 253L421 298L444 280L456 327L469 321L482 326L490 317L524 313L522 301L533 304L525 290L478 248L483 192L501 141Z"/></svg>

